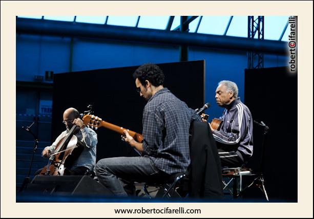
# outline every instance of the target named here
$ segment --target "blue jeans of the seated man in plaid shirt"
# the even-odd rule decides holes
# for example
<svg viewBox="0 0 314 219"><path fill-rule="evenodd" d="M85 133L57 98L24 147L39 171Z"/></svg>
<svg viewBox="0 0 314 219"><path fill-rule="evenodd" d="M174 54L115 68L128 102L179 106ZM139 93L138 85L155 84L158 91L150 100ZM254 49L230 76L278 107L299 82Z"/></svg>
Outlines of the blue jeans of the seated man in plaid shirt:
<svg viewBox="0 0 314 219"><path fill-rule="evenodd" d="M118 196L135 195L134 182L154 182L169 177L148 157L105 158L97 162L95 170L99 182Z"/></svg>

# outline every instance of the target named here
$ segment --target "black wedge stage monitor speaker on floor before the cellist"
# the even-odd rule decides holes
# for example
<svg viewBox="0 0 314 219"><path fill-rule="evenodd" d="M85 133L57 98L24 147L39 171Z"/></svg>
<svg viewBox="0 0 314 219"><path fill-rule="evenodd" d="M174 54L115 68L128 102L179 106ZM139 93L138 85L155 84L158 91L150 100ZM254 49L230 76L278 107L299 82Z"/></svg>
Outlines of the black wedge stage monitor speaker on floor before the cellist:
<svg viewBox="0 0 314 219"><path fill-rule="evenodd" d="M36 176L25 192L59 195L112 195L90 176Z"/></svg>

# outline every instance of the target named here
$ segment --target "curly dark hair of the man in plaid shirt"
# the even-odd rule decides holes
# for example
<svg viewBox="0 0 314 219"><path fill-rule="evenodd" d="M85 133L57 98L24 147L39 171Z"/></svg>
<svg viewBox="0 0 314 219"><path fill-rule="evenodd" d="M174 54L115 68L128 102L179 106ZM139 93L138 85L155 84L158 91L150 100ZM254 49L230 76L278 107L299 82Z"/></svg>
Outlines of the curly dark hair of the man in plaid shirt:
<svg viewBox="0 0 314 219"><path fill-rule="evenodd" d="M138 67L133 73L134 79L138 79L142 85L145 85L145 80L148 80L152 85L163 85L164 74L158 65L153 63L145 63Z"/></svg>

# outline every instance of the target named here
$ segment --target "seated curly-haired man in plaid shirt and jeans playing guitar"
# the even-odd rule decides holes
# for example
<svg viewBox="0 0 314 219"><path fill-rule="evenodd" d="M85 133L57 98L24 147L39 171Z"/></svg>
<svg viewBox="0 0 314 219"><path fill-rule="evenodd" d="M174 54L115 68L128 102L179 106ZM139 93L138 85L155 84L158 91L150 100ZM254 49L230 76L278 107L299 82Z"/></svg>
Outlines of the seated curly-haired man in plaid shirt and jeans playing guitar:
<svg viewBox="0 0 314 219"><path fill-rule="evenodd" d="M106 158L97 162L100 183L114 194L135 194L134 182L166 180L185 172L190 164L189 129L196 112L163 87L164 75L156 64L143 64L133 74L136 89L148 103L143 111L143 142L127 131L122 137L141 157Z"/></svg>

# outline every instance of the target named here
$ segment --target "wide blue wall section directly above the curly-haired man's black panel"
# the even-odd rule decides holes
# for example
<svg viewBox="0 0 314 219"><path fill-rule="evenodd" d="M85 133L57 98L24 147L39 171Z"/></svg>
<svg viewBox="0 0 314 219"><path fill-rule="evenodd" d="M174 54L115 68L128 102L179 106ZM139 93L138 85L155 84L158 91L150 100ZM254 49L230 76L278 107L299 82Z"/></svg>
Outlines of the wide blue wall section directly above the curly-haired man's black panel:
<svg viewBox="0 0 314 219"><path fill-rule="evenodd" d="M75 40L72 71L128 67L144 62L176 62L179 60L178 51L175 46Z"/></svg>

